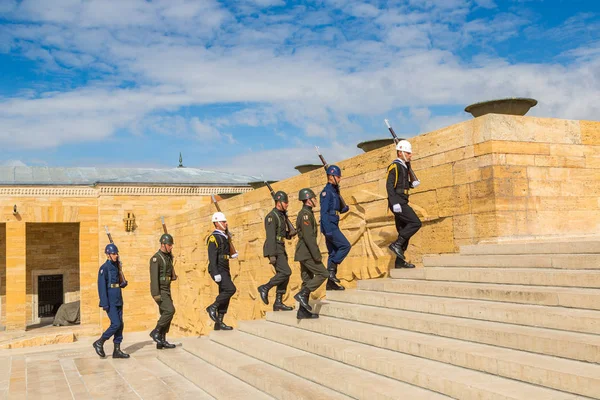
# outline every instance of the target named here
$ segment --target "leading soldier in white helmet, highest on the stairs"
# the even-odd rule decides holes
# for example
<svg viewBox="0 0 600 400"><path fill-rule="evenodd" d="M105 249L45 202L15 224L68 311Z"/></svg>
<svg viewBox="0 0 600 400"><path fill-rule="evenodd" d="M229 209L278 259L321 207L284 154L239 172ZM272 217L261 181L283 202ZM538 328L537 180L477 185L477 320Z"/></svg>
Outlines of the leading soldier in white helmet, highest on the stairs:
<svg viewBox="0 0 600 400"><path fill-rule="evenodd" d="M388 167L386 189L388 204L394 213L398 239L389 245L389 249L396 254L396 268L414 268L406 261L404 252L408 248L410 238L421 228L421 220L408 205L408 191L416 188L421 183L416 179L410 167L412 159L412 146L407 140L400 140L396 144L397 157Z"/></svg>

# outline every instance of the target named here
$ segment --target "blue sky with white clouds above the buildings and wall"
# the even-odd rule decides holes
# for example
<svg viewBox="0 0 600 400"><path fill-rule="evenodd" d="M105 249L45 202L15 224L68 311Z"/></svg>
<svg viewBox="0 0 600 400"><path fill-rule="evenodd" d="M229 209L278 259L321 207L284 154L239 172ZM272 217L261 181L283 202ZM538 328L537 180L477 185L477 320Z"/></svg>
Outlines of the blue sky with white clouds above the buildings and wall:
<svg viewBox="0 0 600 400"><path fill-rule="evenodd" d="M281 179L533 97L598 120L592 0L0 0L3 165Z"/></svg>

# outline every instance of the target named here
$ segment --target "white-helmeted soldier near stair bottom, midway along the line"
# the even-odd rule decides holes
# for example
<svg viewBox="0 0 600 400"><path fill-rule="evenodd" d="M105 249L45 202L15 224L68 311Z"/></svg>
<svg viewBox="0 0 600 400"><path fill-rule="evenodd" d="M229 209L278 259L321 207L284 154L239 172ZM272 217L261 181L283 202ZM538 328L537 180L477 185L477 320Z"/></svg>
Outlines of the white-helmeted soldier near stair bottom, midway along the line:
<svg viewBox="0 0 600 400"><path fill-rule="evenodd" d="M229 259L236 258L237 253L230 254L229 236L227 235L227 218L222 212L212 216L214 232L206 240L208 245L208 273L219 285L219 295L215 302L206 308L206 312L215 323L215 331L230 331L233 328L223 322L229 301L236 292L229 272Z"/></svg>

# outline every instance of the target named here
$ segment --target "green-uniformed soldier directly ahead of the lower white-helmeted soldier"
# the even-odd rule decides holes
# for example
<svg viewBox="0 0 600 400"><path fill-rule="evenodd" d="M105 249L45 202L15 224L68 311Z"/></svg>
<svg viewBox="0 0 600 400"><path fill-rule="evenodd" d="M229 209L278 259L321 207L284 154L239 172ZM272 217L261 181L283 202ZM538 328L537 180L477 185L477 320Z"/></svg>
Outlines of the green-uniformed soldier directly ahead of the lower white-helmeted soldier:
<svg viewBox="0 0 600 400"><path fill-rule="evenodd" d="M273 196L275 207L265 217L267 238L263 246L263 256L269 258L269 263L275 267L275 276L269 282L258 287L258 293L263 303L269 304L269 290L277 287L273 311L290 311L293 307L283 304L283 295L287 291L292 270L288 264L284 239L289 239L285 223L288 208L288 197L285 192L278 191Z"/></svg>

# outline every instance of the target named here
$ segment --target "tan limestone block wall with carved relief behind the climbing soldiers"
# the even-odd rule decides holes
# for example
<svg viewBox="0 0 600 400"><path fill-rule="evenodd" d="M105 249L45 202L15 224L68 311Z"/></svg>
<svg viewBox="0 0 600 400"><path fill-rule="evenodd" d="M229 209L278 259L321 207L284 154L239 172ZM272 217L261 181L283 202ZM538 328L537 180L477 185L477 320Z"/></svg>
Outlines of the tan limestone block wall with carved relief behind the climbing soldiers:
<svg viewBox="0 0 600 400"><path fill-rule="evenodd" d="M597 234L599 132L598 122L490 114L412 138L413 167L422 184L410 201L424 226L411 241L409 258L420 265L423 254L452 253L464 244ZM338 164L342 195L351 207L340 221L353 245L338 273L347 287L357 279L385 276L393 264L386 246L396 231L384 178L394 157L388 146ZM310 187L318 193L324 185L324 173L317 170L278 182L274 189L290 195L289 214L295 221L298 190ZM240 252L239 260L231 262L238 292L229 322L260 318L269 308L257 298L256 287L273 274L262 258L263 218L272 206L266 188L221 202ZM204 309L217 288L207 273L205 239L214 211L209 205L168 220L181 277L175 284L175 325L183 334L212 329ZM294 247L295 241L288 242L290 258ZM322 237L320 247L325 253ZM291 266L288 303L300 284L299 265Z"/></svg>

